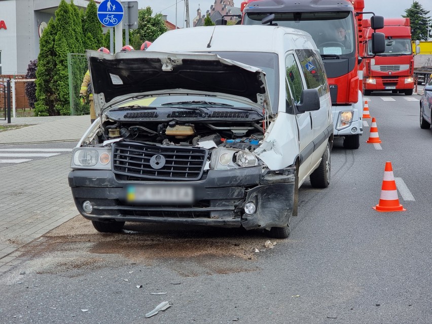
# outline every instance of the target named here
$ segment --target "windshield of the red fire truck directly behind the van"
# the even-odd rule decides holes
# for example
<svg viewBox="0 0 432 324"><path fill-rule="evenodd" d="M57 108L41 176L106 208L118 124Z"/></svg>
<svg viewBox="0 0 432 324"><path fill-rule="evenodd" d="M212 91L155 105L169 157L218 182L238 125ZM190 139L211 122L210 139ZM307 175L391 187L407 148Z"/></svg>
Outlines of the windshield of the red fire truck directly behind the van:
<svg viewBox="0 0 432 324"><path fill-rule="evenodd" d="M260 25L268 13L246 13L243 24ZM356 44L351 12L275 13L273 23L308 32L323 58L352 57Z"/></svg>

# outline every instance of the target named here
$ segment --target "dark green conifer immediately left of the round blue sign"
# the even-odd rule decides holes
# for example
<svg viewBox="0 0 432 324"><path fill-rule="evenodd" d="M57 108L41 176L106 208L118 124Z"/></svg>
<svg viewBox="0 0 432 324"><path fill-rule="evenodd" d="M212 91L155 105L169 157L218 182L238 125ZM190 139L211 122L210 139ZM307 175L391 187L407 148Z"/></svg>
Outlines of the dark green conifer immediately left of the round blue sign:
<svg viewBox="0 0 432 324"><path fill-rule="evenodd" d="M104 46L104 37L102 34L102 26L97 18L97 5L94 0L90 0L87 5L86 12L82 17L83 34L85 49L97 50ZM106 46L104 46L106 47ZM107 48L110 48L109 46Z"/></svg>

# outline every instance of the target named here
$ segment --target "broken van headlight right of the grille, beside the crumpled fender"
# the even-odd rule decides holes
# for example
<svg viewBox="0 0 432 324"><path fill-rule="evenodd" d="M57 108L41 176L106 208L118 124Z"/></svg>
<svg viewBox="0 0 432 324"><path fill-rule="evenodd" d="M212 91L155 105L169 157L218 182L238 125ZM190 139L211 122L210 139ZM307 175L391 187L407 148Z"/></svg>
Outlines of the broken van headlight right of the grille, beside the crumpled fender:
<svg viewBox="0 0 432 324"><path fill-rule="evenodd" d="M249 151L238 149L214 149L211 152L210 169L228 170L263 164L258 157Z"/></svg>

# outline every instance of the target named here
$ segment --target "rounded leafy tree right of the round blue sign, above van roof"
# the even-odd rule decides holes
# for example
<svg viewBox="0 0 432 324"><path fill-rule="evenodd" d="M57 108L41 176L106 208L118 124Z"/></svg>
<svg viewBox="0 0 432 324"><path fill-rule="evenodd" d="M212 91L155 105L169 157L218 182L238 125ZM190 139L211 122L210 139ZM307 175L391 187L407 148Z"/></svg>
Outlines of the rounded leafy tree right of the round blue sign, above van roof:
<svg viewBox="0 0 432 324"><path fill-rule="evenodd" d="M152 17L152 15L153 10L151 7L138 10L138 28L133 31L133 36L139 35L139 46L141 46L141 43L144 41L153 42L161 34L168 31L162 14L156 14L154 17Z"/></svg>

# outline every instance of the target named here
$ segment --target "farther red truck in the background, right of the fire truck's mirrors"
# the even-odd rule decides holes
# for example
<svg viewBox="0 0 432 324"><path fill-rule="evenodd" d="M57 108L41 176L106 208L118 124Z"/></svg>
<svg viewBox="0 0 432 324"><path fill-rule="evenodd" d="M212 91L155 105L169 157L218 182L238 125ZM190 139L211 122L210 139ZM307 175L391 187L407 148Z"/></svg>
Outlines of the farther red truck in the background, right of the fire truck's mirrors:
<svg viewBox="0 0 432 324"><path fill-rule="evenodd" d="M363 28L366 55L371 53L372 29L369 19L364 19ZM409 18L384 19L385 52L374 58L367 58L363 68L363 93L372 91L391 91L412 95L414 89L414 57L411 46L411 27Z"/></svg>

